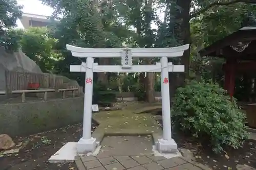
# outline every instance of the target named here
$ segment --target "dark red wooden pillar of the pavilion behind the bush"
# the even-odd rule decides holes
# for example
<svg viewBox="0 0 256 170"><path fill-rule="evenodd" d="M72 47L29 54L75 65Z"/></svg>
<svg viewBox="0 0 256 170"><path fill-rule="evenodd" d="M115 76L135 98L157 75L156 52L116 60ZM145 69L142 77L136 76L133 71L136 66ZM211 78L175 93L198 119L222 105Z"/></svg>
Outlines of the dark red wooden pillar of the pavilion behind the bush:
<svg viewBox="0 0 256 170"><path fill-rule="evenodd" d="M234 82L236 78L236 60L227 59L226 64L224 64L224 89L227 90L230 97L234 94Z"/></svg>

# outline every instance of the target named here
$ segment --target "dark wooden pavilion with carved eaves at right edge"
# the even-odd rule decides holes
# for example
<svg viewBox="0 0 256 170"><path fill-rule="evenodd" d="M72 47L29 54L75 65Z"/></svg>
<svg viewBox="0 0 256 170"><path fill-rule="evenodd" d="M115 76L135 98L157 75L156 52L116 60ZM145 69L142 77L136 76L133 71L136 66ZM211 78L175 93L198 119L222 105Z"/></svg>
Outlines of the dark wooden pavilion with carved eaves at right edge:
<svg viewBox="0 0 256 170"><path fill-rule="evenodd" d="M252 75L247 89L256 92L256 27L243 27L200 52L201 57L224 58L224 89L230 96L234 94L235 80L238 75ZM246 93L244 95L247 95ZM248 126L256 128L256 103L243 105L246 110Z"/></svg>

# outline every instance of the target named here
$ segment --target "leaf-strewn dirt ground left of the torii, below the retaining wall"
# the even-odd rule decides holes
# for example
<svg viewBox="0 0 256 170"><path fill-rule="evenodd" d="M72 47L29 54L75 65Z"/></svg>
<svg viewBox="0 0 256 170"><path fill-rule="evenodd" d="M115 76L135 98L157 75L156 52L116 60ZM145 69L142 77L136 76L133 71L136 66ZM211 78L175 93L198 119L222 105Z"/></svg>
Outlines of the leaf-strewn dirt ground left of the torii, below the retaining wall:
<svg viewBox="0 0 256 170"><path fill-rule="evenodd" d="M97 128L93 122L92 131ZM42 132L28 137L13 138L19 147L18 153L9 156L0 154L1 170L77 170L75 163L48 163L48 159L69 141L78 141L82 135L82 125ZM16 148L17 148L16 147Z"/></svg>

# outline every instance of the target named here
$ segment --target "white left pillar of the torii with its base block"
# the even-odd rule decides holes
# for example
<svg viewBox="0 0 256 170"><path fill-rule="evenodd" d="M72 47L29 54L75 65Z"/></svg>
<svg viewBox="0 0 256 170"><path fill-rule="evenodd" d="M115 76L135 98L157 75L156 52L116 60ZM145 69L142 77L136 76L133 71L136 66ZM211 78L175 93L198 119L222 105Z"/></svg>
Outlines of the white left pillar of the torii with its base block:
<svg viewBox="0 0 256 170"><path fill-rule="evenodd" d="M96 149L96 139L91 136L92 125L92 101L93 101L93 63L94 58L87 57L86 60L86 84L84 86L83 107L83 131L82 137L77 143L77 153L93 152ZM82 63L84 65L84 63Z"/></svg>

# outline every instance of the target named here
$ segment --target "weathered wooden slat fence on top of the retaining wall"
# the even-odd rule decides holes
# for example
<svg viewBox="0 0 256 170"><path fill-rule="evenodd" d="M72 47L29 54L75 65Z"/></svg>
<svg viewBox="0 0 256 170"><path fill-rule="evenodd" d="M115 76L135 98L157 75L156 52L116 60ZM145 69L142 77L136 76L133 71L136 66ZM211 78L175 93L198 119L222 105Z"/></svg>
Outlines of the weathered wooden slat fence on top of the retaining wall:
<svg viewBox="0 0 256 170"><path fill-rule="evenodd" d="M51 74L35 74L30 72L5 72L6 91L27 90L29 83L39 83L40 87L60 88L63 79Z"/></svg>

